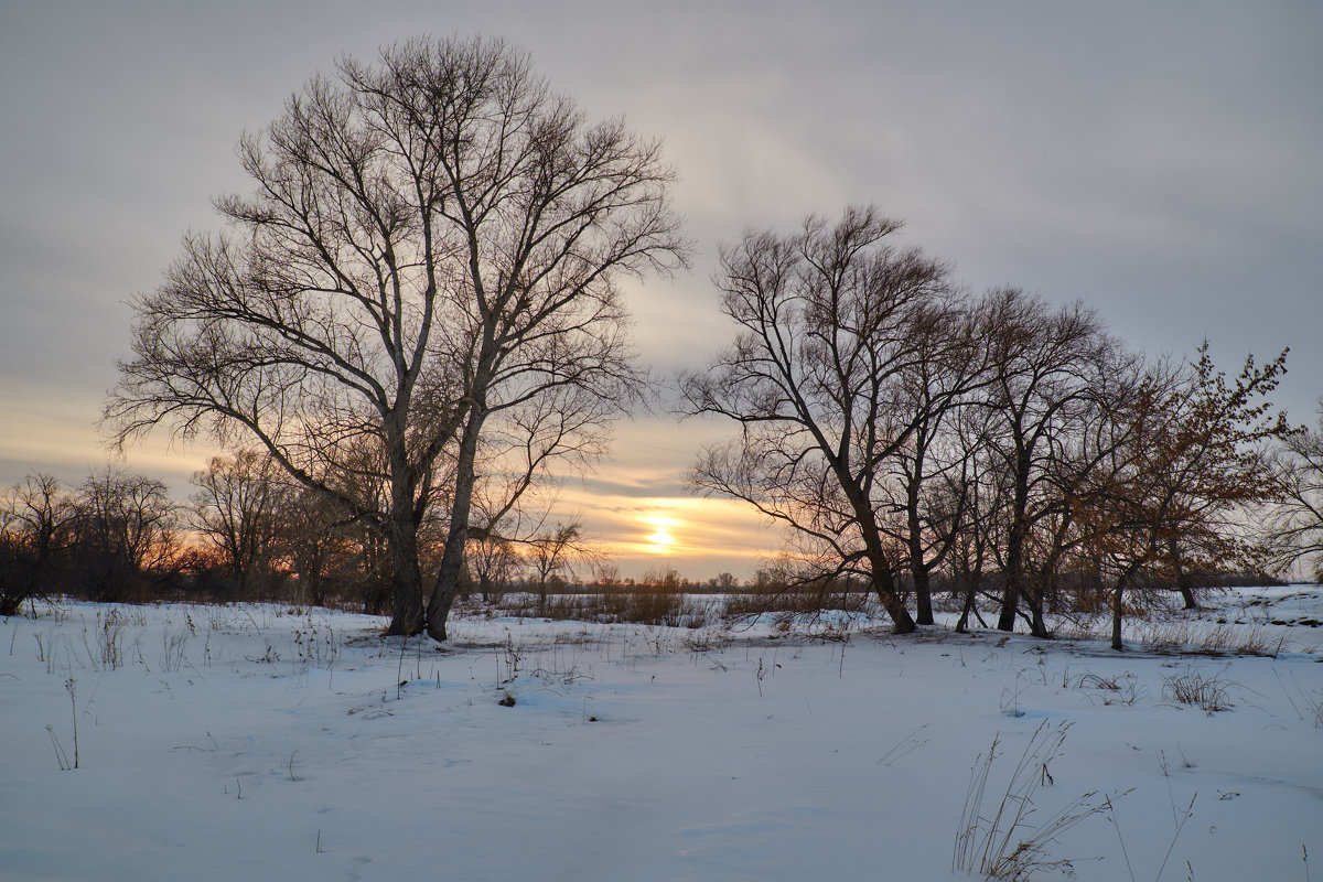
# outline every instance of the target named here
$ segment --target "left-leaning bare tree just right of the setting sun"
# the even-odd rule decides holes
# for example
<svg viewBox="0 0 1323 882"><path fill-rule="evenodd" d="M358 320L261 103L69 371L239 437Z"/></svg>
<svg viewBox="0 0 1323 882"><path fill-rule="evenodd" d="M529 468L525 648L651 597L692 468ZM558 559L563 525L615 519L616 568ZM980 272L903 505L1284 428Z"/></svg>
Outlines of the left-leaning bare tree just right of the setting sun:
<svg viewBox="0 0 1323 882"><path fill-rule="evenodd" d="M885 238L900 223L849 208L800 233L747 233L721 251L722 309L740 325L705 374L683 381L692 414L736 421L691 473L709 492L754 505L863 574L897 632L914 629L901 599L904 559L878 517L889 461L927 417L896 407L904 378L950 315L945 264Z"/></svg>

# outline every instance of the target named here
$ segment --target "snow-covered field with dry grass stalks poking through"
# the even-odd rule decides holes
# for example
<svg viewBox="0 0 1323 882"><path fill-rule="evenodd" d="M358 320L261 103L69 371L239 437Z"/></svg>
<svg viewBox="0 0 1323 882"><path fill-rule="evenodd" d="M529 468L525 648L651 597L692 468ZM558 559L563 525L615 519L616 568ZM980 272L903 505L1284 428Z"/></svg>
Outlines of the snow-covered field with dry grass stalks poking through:
<svg viewBox="0 0 1323 882"><path fill-rule="evenodd" d="M1323 594L1213 603L1127 653L482 618L437 651L324 610L37 604L0 644L0 878L950 879L999 805L1027 815L990 860L1074 805L1028 861L1323 879Z"/></svg>

